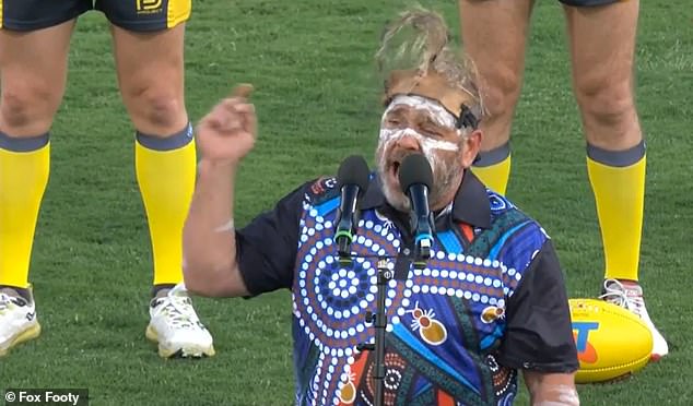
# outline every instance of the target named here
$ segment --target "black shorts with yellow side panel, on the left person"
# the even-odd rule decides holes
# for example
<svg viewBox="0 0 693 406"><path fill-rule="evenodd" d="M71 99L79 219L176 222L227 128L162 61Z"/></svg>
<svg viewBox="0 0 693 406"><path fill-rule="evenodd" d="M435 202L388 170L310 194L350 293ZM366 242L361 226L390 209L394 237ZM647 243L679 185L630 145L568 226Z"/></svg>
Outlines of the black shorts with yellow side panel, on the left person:
<svg viewBox="0 0 693 406"><path fill-rule="evenodd" d="M0 0L0 28L34 31L101 10L125 29L172 28L190 16L192 0Z"/></svg>

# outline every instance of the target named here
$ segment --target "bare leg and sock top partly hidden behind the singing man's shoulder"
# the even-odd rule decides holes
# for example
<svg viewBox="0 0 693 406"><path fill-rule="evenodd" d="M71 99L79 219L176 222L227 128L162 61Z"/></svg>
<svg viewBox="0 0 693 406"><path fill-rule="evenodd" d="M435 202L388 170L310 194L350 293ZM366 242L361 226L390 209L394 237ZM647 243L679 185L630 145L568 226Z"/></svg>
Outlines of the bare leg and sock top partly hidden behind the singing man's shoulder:
<svg viewBox="0 0 693 406"><path fill-rule="evenodd" d="M505 193L510 174L510 127L519 98L532 0L459 0L462 44L481 73L488 116L473 172Z"/></svg>

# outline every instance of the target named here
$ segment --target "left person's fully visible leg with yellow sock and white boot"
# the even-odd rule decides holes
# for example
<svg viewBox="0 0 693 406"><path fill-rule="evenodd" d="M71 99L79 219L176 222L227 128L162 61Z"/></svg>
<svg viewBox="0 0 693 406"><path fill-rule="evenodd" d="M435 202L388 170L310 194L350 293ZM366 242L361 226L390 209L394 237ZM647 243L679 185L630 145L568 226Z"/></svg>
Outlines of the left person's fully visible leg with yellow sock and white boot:
<svg viewBox="0 0 693 406"><path fill-rule="evenodd" d="M149 220L154 289L148 337L164 357L211 356L183 282L183 224L196 177L184 101L184 34L190 1L97 3L113 26L118 82L136 134L136 172Z"/></svg>

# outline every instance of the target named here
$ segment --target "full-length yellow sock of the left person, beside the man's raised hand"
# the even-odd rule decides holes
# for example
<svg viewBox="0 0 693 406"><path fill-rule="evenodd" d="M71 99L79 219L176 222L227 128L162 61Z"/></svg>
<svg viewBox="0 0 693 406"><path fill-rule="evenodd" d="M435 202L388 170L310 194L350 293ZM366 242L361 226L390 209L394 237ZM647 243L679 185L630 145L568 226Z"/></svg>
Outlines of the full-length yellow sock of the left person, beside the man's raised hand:
<svg viewBox="0 0 693 406"><path fill-rule="evenodd" d="M154 285L177 284L197 166L191 127L166 139L138 132L134 163L152 239Z"/></svg>

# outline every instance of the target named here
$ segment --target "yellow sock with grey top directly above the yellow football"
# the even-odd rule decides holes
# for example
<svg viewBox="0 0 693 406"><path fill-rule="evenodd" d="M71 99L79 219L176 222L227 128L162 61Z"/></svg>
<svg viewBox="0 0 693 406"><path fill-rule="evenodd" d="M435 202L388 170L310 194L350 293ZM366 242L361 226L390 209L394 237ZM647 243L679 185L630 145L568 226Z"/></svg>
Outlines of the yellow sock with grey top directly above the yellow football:
<svg viewBox="0 0 693 406"><path fill-rule="evenodd" d="M604 277L637 280L645 201L645 144L626 151L587 146L604 250Z"/></svg>

